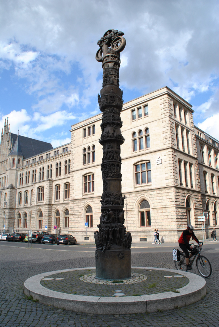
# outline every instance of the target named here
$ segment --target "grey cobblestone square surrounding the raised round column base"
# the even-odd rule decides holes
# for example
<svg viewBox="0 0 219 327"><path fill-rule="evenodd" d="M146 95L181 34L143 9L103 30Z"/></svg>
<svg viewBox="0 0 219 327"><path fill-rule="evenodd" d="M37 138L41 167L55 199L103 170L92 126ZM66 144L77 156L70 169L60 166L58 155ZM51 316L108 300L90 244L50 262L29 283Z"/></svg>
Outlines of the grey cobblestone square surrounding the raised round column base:
<svg viewBox="0 0 219 327"><path fill-rule="evenodd" d="M206 280L207 295L203 300L175 310L133 315L76 313L27 300L23 293L27 278L58 269L94 267L95 257L92 252L30 250L1 244L0 251L0 327L219 326L219 250L213 247L203 253L212 265L212 274ZM133 253L132 266L173 269L172 253ZM198 274L195 266L192 272Z"/></svg>

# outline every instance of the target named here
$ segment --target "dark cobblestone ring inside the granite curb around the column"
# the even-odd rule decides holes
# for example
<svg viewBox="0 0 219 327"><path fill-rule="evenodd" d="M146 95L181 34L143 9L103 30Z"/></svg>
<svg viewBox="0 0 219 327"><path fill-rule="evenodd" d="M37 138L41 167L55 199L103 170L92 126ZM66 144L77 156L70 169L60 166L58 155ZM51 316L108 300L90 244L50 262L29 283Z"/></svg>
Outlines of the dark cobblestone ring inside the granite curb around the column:
<svg viewBox="0 0 219 327"><path fill-rule="evenodd" d="M174 291L189 283L189 279L183 278L166 278L164 276L171 275L167 271L159 270L147 270L147 269L132 269L132 272L143 274L147 276L147 279L137 284L93 284L85 283L80 280L81 276L85 274L95 273L95 269L92 270L76 270L68 271L55 275L50 275L52 280L41 280L41 284L53 291L64 292L69 294L87 295L87 296L112 296L115 293L115 289L121 289L127 296L148 295L162 292ZM179 275L179 274L175 274ZM62 280L56 280L56 278L63 278Z"/></svg>

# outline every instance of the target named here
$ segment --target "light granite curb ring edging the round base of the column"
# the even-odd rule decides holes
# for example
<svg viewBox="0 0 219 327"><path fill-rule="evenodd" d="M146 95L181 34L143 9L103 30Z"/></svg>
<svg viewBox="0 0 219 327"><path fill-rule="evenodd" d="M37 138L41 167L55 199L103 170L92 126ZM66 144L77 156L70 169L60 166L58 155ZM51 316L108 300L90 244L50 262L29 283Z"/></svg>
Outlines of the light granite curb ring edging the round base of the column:
<svg viewBox="0 0 219 327"><path fill-rule="evenodd" d="M163 270L179 274L179 271L175 269L154 267L132 268ZM151 295L127 296L124 298L98 297L57 292L49 290L40 284L41 279L44 277L61 272L84 269L95 269L95 267L56 270L32 276L24 283L24 293L43 304L65 310L90 314L118 315L150 313L158 310L163 311L183 307L201 300L207 292L204 278L184 271L180 271L180 274L189 278L189 283L178 289L180 293L164 292Z"/></svg>

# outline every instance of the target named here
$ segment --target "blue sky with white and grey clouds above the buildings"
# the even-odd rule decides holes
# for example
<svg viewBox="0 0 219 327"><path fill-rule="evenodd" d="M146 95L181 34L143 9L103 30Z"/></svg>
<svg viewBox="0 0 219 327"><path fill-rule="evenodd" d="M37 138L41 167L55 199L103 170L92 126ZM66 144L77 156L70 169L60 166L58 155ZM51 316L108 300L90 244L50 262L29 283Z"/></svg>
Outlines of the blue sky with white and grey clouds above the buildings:
<svg viewBox="0 0 219 327"><path fill-rule="evenodd" d="M169 86L194 123L219 139L217 0L0 0L0 127L70 142L71 125L99 113L97 41L125 33L124 102Z"/></svg>

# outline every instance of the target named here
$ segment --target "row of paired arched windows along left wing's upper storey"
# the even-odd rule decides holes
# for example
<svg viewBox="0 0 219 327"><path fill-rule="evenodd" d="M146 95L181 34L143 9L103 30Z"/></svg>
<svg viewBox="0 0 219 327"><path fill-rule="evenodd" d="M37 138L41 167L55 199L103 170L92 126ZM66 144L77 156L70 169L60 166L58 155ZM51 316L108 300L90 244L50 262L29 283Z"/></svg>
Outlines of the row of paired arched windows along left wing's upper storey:
<svg viewBox="0 0 219 327"><path fill-rule="evenodd" d="M65 160L64 162L64 175L70 174L70 170L71 170L71 161L70 159ZM56 163L55 166L55 177L61 176L62 174L62 163ZM32 170L32 174L31 174L31 180L32 183L36 182L36 178L37 178L37 170ZM45 178L44 176L44 167L41 167L39 169L39 181L43 181ZM50 166L47 166L47 171L46 171L46 178L52 178L52 164L50 164ZM30 172L26 171L25 173L25 184L29 184L30 181ZM19 175L19 186L23 185L24 183L24 173L20 173Z"/></svg>

